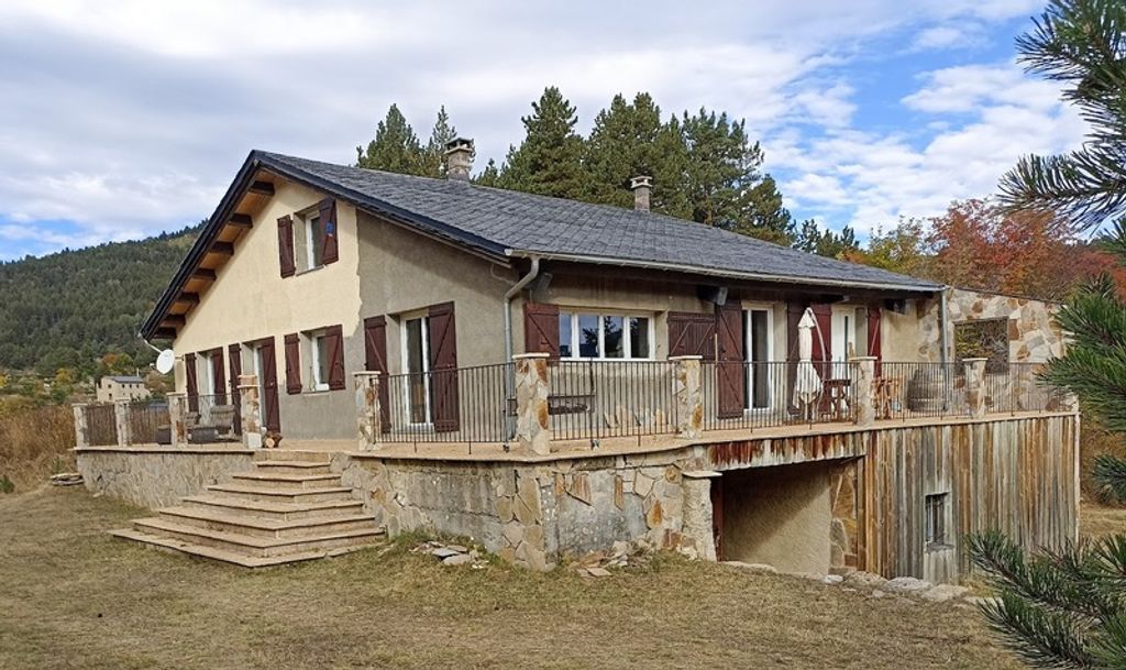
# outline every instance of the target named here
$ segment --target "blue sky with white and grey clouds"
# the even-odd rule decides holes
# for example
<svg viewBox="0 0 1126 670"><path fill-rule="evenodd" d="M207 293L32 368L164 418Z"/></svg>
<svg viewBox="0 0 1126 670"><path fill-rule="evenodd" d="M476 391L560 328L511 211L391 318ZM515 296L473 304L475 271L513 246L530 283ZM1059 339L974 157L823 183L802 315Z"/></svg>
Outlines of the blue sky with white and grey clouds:
<svg viewBox="0 0 1126 670"><path fill-rule="evenodd" d="M395 102L475 168L545 86L747 120L796 218L861 236L1085 126L1013 39L1043 0L0 0L0 260L206 218L251 149L350 163Z"/></svg>

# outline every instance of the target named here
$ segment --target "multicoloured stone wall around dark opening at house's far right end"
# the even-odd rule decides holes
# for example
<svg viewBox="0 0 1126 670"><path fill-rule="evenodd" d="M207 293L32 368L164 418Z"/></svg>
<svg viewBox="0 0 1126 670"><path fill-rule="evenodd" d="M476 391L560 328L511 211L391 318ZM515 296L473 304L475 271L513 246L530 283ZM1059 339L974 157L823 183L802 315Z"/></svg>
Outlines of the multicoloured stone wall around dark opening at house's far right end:
<svg viewBox="0 0 1126 670"><path fill-rule="evenodd" d="M951 288L946 300L949 332L954 347L954 324L982 319L1009 320L1009 360L1043 363L1063 355L1064 334L1055 322L1060 305L1026 297L1012 297L964 288ZM928 301L919 316L920 360L940 360L942 354L939 325L940 302Z"/></svg>

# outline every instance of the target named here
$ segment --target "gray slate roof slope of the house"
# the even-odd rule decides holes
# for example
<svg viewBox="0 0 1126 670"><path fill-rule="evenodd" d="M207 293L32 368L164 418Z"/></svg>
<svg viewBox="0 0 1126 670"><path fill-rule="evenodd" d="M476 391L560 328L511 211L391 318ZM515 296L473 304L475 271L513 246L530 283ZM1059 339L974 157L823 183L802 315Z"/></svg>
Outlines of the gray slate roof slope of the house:
<svg viewBox="0 0 1126 670"><path fill-rule="evenodd" d="M711 275L932 292L939 284L654 213L256 151L262 167L492 253L661 263Z"/></svg>

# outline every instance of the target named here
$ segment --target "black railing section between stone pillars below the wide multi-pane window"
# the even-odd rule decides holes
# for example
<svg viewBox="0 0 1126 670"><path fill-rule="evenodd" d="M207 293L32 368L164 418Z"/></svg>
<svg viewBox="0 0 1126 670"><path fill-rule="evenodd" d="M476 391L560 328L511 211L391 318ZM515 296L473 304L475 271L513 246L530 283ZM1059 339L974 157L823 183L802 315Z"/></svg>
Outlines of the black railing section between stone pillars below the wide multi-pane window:
<svg viewBox="0 0 1126 670"><path fill-rule="evenodd" d="M669 360L553 360L547 414L552 439L599 439L677 430Z"/></svg>

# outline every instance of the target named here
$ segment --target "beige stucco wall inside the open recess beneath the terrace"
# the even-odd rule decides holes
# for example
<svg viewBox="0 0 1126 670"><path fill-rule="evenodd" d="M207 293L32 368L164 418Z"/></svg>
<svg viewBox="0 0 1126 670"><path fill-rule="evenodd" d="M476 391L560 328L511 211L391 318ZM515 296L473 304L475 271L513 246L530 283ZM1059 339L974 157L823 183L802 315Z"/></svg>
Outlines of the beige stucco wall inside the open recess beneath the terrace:
<svg viewBox="0 0 1126 670"><path fill-rule="evenodd" d="M830 468L783 465L723 475L723 557L787 572L830 566Z"/></svg>

